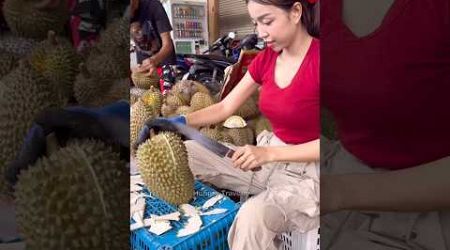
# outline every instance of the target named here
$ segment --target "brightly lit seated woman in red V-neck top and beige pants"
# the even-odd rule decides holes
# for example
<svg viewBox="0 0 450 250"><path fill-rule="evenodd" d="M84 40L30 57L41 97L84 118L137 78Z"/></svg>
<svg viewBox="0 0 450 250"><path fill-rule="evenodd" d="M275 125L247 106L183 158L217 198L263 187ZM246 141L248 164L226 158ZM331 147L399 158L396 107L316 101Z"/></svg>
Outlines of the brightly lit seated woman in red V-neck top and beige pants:
<svg viewBox="0 0 450 250"><path fill-rule="evenodd" d="M276 249L276 235L319 225L319 40L314 2L250 0L248 10L267 43L241 82L220 103L172 118L199 127L230 117L260 90L259 108L273 133L223 159L187 141L194 175L220 188L255 194L238 212L231 249ZM261 171L249 171L262 166Z"/></svg>

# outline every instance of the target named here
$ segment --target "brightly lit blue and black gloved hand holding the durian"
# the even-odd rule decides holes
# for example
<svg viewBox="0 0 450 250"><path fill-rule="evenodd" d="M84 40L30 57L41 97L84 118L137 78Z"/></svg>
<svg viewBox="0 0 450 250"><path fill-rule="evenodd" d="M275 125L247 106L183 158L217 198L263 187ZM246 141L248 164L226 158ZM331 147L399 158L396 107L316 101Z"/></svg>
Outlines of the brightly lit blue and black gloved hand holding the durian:
<svg viewBox="0 0 450 250"><path fill-rule="evenodd" d="M155 119L151 119L145 122L141 131L139 132L138 139L136 144L133 145L133 148L136 150L139 145L144 143L148 138L150 138L150 130L153 130L155 133L159 133L160 131L171 131L176 132L177 129L173 126L174 123L179 123L186 125L186 116L174 116L170 118L162 118L158 117Z"/></svg>

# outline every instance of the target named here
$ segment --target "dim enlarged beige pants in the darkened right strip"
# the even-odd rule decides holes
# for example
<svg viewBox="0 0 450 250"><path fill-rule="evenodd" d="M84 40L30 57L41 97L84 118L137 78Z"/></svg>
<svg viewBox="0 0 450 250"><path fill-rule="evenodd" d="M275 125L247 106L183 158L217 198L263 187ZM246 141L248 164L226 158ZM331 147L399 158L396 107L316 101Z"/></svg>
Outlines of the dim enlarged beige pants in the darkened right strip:
<svg viewBox="0 0 450 250"><path fill-rule="evenodd" d="M321 138L323 174L370 173L339 142ZM448 158L450 167L450 158ZM321 217L322 250L450 249L450 213L340 211ZM447 239L446 239L447 238Z"/></svg>

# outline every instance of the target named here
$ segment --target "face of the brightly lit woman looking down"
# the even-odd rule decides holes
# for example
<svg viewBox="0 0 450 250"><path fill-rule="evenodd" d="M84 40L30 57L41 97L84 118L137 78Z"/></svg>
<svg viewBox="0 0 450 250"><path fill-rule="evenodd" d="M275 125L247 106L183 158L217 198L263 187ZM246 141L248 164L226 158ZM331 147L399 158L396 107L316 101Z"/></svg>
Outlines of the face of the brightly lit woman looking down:
<svg viewBox="0 0 450 250"><path fill-rule="evenodd" d="M273 5L249 1L247 7L258 36L266 41L268 47L280 52L295 39L301 18L301 5L285 11Z"/></svg>

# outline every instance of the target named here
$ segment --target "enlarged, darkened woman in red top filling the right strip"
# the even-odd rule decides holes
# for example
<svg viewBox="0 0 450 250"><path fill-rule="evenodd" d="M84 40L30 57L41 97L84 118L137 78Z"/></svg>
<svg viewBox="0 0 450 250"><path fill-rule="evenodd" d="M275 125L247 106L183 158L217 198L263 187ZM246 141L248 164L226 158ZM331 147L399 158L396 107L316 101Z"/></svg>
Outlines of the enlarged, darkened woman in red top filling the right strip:
<svg viewBox="0 0 450 250"><path fill-rule="evenodd" d="M321 158L321 209L353 211L322 218L321 247L448 249L450 216L431 212L450 208L448 1L322 7L321 99L340 142Z"/></svg>

